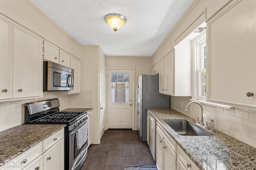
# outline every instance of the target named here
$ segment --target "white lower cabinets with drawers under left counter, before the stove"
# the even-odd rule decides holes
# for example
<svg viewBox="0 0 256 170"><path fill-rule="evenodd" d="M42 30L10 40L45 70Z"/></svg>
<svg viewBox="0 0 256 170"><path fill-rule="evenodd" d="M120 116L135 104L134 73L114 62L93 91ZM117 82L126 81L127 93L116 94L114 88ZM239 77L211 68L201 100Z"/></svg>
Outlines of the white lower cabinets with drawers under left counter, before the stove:
<svg viewBox="0 0 256 170"><path fill-rule="evenodd" d="M0 167L0 170L21 169L64 170L64 128Z"/></svg>

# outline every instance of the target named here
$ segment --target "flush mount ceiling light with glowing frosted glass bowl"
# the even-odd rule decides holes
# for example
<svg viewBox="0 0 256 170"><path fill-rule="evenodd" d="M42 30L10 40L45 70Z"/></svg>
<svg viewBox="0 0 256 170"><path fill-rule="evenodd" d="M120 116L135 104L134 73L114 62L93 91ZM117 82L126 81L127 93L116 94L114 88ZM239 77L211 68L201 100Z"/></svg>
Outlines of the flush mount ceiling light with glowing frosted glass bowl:
<svg viewBox="0 0 256 170"><path fill-rule="evenodd" d="M115 32L126 23L126 18L116 13L107 14L104 19Z"/></svg>

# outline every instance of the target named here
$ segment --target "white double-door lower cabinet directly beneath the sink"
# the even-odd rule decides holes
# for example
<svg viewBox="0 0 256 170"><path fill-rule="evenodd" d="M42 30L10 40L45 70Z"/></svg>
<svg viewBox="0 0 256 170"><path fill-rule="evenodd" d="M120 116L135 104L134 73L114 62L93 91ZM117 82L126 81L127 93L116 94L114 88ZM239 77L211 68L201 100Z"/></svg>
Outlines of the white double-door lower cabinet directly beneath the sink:
<svg viewBox="0 0 256 170"><path fill-rule="evenodd" d="M158 170L176 170L176 142L156 123L156 166Z"/></svg>

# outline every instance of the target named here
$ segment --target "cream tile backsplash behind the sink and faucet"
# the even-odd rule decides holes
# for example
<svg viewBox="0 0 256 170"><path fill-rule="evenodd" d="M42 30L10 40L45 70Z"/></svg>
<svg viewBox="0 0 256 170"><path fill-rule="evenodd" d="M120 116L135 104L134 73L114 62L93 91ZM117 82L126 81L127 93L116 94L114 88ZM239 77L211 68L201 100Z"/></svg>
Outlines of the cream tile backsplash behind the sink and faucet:
<svg viewBox="0 0 256 170"><path fill-rule="evenodd" d="M196 120L201 117L201 108L198 104L190 104L188 111L186 105L191 97L171 96L171 108ZM204 123L206 119L214 119L215 129L230 135L256 148L256 111L235 107L225 109L222 107L202 104L204 108Z"/></svg>

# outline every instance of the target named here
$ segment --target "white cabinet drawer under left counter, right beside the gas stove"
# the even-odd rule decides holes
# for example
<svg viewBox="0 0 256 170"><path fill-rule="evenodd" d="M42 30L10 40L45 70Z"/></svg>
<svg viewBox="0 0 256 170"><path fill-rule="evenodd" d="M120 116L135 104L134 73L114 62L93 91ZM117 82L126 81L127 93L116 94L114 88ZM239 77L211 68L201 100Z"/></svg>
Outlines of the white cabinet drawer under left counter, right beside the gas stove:
<svg viewBox="0 0 256 170"><path fill-rule="evenodd" d="M47 139L45 139L42 142L43 145L43 152L45 152L46 150L48 150L50 147L52 147L54 144L56 144L58 141L60 141L61 139L64 138L64 129L61 129L60 131L54 133L53 135L51 135L50 137L48 137Z"/></svg>

